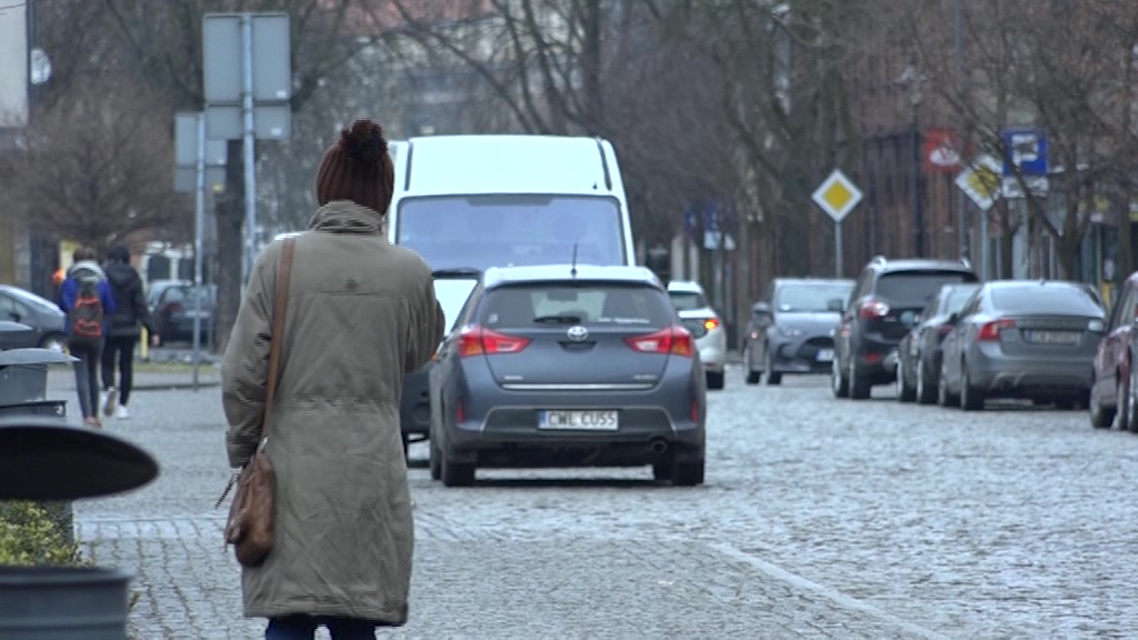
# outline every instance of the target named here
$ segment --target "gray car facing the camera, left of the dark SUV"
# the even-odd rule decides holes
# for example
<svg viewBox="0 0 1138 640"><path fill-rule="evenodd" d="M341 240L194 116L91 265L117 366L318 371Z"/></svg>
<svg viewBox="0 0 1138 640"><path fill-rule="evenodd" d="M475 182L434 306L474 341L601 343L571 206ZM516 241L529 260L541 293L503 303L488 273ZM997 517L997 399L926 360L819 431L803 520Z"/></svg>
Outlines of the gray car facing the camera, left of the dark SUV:
<svg viewBox="0 0 1138 640"><path fill-rule="evenodd" d="M783 374L826 374L834 359L834 327L853 280L775 278L751 307L743 335L743 375L756 385Z"/></svg>

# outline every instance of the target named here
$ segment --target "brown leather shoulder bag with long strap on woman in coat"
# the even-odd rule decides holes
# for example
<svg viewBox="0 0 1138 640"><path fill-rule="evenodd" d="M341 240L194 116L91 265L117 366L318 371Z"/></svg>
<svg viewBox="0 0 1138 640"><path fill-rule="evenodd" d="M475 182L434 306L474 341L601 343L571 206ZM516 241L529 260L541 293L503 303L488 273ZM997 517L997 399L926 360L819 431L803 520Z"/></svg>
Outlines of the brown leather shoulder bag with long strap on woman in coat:
<svg viewBox="0 0 1138 640"><path fill-rule="evenodd" d="M269 380L265 388L264 420L261 442L253 459L237 478L237 492L229 509L225 543L233 545L237 561L247 567L262 564L273 549L273 500L277 485L273 465L269 460L269 428L277 378L280 375L281 343L284 340L284 313L288 309L289 279L292 276L294 238L286 238L277 272L277 297L273 301L272 342L269 346Z"/></svg>

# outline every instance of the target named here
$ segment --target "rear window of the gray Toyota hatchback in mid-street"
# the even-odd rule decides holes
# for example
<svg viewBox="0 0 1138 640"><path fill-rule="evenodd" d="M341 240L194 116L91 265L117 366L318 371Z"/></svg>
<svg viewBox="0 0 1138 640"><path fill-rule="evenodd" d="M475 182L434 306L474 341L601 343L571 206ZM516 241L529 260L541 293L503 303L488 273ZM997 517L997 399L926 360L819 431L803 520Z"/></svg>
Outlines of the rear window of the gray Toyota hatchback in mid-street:
<svg viewBox="0 0 1138 640"><path fill-rule="evenodd" d="M483 300L479 317L486 327L665 327L673 322L675 311L659 289L643 285L549 282L492 289Z"/></svg>

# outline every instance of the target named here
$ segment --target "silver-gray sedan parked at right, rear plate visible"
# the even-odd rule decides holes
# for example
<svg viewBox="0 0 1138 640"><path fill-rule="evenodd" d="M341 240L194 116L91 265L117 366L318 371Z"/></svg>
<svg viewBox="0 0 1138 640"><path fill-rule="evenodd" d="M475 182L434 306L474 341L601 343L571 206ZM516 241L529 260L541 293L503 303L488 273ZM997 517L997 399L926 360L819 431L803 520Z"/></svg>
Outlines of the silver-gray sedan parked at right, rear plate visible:
<svg viewBox="0 0 1138 640"><path fill-rule="evenodd" d="M1104 319L1080 282L988 282L949 320L939 403L965 411L989 397L1086 405Z"/></svg>

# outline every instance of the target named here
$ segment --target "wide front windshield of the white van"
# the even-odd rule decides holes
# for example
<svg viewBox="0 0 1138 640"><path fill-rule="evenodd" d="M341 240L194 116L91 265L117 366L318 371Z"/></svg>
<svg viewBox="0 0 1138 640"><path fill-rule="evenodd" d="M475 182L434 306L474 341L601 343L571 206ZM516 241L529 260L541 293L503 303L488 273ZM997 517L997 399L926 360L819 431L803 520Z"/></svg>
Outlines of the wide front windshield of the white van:
<svg viewBox="0 0 1138 640"><path fill-rule="evenodd" d="M434 269L625 264L620 204L607 196L437 196L401 202L396 243Z"/></svg>

